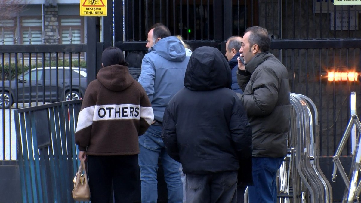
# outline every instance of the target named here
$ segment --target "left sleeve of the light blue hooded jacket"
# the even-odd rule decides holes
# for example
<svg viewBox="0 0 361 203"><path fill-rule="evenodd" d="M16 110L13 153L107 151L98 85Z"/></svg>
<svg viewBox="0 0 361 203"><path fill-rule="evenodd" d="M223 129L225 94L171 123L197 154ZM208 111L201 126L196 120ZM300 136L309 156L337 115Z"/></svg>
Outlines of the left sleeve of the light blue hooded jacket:
<svg viewBox="0 0 361 203"><path fill-rule="evenodd" d="M140 72L138 82L144 87L149 101L152 103L156 71L152 60L150 60L149 54L151 53L146 54L142 60L142 70Z"/></svg>

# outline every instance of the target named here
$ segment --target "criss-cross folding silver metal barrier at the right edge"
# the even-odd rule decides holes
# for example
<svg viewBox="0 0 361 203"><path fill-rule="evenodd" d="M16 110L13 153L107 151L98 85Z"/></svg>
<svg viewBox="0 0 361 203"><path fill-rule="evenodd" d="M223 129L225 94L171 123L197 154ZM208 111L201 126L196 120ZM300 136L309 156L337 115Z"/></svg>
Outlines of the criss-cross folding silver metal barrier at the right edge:
<svg viewBox="0 0 361 203"><path fill-rule="evenodd" d="M351 118L348 122L347 128L343 137L340 141L340 145L337 148L335 155L333 157L334 161L334 171L332 174L332 181L336 181L337 176L337 169L341 174L342 180L346 185L346 189L343 196L342 202L360 202L359 197L361 193L361 178L359 176L359 171L361 170L360 162L361 162L361 139L360 139L360 132L361 132L361 123L358 119L356 114L356 93L351 93ZM356 128L355 128L356 127ZM356 131L357 129L357 131ZM348 138L351 135L351 145L352 145L352 162L351 162L351 169L349 172L349 176L347 176L345 169L343 168L341 161L339 159L343 148L345 147ZM349 180L349 177L351 180Z"/></svg>

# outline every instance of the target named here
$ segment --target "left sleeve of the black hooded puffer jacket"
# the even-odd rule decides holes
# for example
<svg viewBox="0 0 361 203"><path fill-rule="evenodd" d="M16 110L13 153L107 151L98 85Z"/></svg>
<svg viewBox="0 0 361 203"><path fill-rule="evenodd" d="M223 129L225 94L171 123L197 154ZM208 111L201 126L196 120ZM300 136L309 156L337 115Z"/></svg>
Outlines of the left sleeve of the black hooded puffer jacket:
<svg viewBox="0 0 361 203"><path fill-rule="evenodd" d="M179 148L177 142L177 131L175 128L176 121L173 118L173 109L172 100L170 100L168 106L165 108L164 117L163 117L163 126L162 126L162 139L165 145L165 149L168 152L168 155L180 162L179 157Z"/></svg>

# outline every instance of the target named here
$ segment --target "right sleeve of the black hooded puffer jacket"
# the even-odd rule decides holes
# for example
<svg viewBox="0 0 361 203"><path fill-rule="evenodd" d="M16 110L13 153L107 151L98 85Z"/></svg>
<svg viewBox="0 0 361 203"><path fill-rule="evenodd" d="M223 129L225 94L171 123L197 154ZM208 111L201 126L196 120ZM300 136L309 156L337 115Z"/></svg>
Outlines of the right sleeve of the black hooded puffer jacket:
<svg viewBox="0 0 361 203"><path fill-rule="evenodd" d="M240 99L235 95L233 101L229 124L231 139L238 157L247 159L252 156L252 128Z"/></svg>

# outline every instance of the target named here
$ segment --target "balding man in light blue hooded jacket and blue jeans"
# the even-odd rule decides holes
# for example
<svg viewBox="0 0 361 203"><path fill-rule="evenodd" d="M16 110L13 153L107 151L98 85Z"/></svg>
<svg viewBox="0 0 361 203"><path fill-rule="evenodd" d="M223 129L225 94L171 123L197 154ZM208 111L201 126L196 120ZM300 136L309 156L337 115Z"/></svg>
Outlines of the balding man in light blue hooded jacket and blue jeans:
<svg viewBox="0 0 361 203"><path fill-rule="evenodd" d="M161 157L168 199L172 203L183 202L183 188L179 163L167 154L161 138L165 107L169 100L184 87L184 75L189 57L182 42L168 27L157 23L148 33L149 52L142 61L138 82L144 87L154 112L154 121L144 135L139 136L139 167L142 203L157 202L158 157Z"/></svg>

